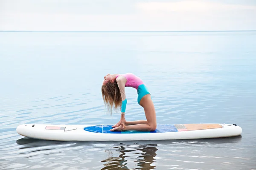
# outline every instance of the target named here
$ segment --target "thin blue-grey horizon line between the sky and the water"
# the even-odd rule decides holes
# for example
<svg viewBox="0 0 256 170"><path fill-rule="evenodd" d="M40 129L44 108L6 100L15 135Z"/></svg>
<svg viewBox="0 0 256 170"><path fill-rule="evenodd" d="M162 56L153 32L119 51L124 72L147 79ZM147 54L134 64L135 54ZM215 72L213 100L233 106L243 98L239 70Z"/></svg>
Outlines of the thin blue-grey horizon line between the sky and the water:
<svg viewBox="0 0 256 170"><path fill-rule="evenodd" d="M1 31L0 32L248 32L256 30L198 30L198 31Z"/></svg>

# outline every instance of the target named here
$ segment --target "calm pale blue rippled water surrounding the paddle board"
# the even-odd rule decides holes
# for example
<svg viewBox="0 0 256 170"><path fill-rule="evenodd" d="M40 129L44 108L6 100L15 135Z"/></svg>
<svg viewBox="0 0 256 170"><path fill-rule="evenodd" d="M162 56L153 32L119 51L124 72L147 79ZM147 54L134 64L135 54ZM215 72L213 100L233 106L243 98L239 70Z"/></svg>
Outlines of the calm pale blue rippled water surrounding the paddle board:
<svg viewBox="0 0 256 170"><path fill-rule="evenodd" d="M0 169L256 169L256 31L0 32ZM158 124L230 123L242 136L178 141L56 142L20 124L115 124L107 73L148 85ZM145 119L126 88L125 118Z"/></svg>

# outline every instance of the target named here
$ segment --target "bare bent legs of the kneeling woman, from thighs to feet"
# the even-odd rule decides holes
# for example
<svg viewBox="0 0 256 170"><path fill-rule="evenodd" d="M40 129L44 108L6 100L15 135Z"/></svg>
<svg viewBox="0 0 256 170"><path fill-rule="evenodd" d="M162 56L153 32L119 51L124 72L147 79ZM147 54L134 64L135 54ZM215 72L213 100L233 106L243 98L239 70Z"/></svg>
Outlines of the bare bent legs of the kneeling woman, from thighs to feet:
<svg viewBox="0 0 256 170"><path fill-rule="evenodd" d="M124 128L122 126L115 127L113 130L140 130L140 131L153 131L157 128L157 118L156 118L156 111L154 108L154 104L151 100L150 94L143 96L140 101L140 105L144 108L145 116L147 121L145 120L138 120L133 121L132 123L139 123L134 125L125 125ZM130 122L131 124L131 122Z"/></svg>

